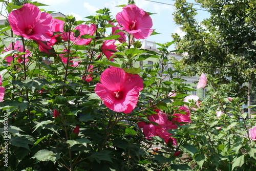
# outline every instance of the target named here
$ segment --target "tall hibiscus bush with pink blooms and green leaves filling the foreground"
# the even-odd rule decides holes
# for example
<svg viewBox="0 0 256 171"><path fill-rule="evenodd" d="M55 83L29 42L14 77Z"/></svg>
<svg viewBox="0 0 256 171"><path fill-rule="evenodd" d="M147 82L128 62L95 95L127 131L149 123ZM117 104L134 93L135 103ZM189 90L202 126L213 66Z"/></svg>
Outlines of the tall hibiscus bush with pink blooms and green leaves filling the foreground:
<svg viewBox="0 0 256 171"><path fill-rule="evenodd" d="M157 34L143 9L129 2L83 21L2 2L0 170L255 169L242 100L204 74L208 95L189 96L174 42L141 48ZM158 62L138 65L148 58Z"/></svg>

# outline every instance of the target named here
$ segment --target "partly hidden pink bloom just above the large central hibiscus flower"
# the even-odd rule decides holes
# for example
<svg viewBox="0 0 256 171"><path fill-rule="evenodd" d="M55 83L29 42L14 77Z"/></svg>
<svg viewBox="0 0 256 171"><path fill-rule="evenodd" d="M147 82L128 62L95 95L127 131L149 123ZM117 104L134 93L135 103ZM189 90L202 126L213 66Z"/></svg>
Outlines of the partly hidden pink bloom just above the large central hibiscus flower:
<svg viewBox="0 0 256 171"><path fill-rule="evenodd" d="M103 45L101 47L102 53L106 56L106 58L110 59L110 61L114 61L114 57L116 55L114 55L115 52L113 51L117 51L117 46L115 45L116 40L112 39L112 40L105 40L103 42ZM112 50L112 51L109 51Z"/></svg>

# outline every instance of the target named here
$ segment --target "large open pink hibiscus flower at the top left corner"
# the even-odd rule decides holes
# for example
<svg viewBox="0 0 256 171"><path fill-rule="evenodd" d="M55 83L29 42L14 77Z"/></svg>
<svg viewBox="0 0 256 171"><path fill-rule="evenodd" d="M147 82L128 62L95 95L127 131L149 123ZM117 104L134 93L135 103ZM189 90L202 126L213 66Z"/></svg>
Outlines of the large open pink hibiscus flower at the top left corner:
<svg viewBox="0 0 256 171"><path fill-rule="evenodd" d="M13 33L28 39L49 41L52 16L41 12L33 4L24 4L22 8L13 10L8 20Z"/></svg>

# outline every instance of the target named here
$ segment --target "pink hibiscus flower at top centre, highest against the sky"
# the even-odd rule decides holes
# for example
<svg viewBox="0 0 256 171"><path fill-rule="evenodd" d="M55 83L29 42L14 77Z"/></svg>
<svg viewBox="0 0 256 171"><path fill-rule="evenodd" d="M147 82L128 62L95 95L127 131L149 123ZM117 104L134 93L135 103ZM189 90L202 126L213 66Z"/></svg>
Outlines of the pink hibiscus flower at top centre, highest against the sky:
<svg viewBox="0 0 256 171"><path fill-rule="evenodd" d="M153 32L150 15L133 4L123 7L123 10L117 13L116 20L123 27L120 30L133 34L136 39L146 39Z"/></svg>

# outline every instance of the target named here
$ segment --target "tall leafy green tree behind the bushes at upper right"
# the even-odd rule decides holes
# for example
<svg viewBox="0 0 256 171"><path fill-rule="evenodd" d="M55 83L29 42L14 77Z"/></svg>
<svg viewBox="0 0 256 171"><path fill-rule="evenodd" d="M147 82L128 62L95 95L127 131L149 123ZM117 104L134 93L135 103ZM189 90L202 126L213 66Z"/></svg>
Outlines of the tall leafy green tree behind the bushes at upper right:
<svg viewBox="0 0 256 171"><path fill-rule="evenodd" d="M190 74L207 73L228 83L232 94L245 95L246 83L256 84L256 2L250 0L196 0L210 17L198 23L193 4L177 0L174 20L184 37L173 34L176 48L188 53L183 59ZM227 79L231 78L231 79Z"/></svg>

